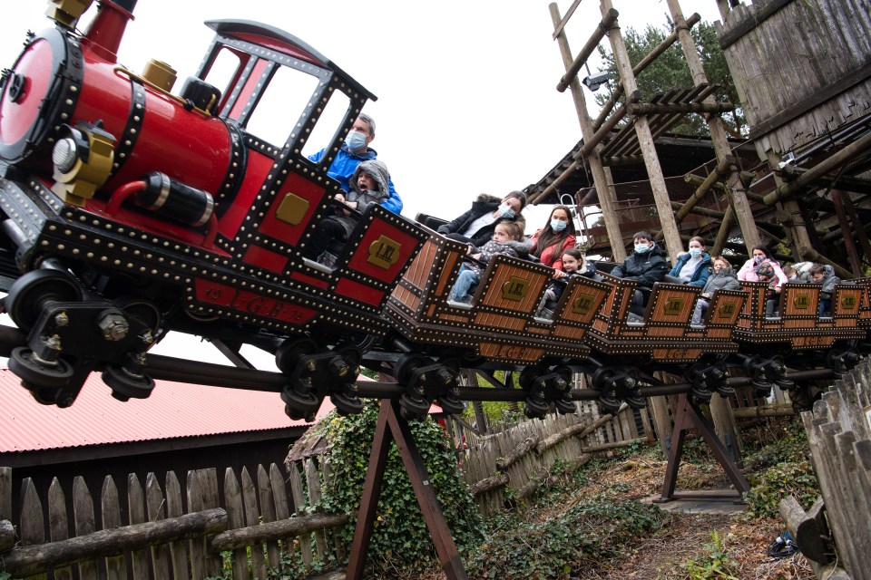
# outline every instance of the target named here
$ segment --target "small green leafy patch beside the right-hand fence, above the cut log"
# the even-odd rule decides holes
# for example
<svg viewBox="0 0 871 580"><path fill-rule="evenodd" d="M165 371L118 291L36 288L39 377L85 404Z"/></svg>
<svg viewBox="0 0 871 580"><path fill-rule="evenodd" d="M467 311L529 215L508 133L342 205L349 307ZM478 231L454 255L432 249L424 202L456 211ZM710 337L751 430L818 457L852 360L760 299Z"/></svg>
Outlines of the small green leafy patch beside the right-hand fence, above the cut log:
<svg viewBox="0 0 871 580"><path fill-rule="evenodd" d="M749 517L779 517L780 500L789 494L805 509L819 497L817 476L807 460L780 463L749 482L752 488L744 496Z"/></svg>

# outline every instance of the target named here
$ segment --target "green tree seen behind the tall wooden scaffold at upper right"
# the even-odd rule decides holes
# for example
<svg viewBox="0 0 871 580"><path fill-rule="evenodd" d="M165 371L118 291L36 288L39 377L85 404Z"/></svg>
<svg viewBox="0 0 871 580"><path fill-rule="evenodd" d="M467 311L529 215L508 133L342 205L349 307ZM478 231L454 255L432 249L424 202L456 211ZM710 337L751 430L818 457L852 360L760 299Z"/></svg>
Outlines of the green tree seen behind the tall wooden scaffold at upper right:
<svg viewBox="0 0 871 580"><path fill-rule="evenodd" d="M641 33L634 28L624 31L623 41L626 43L626 50L629 53L632 66L640 63L641 59L661 44L665 37L671 34L673 28L674 24L667 16L666 24L659 28L648 24ZM729 73L726 56L719 47L717 32L713 24L700 22L692 27L690 34L696 45L696 50L699 51L702 66L705 69L705 74L708 76L708 82L719 85L718 91L714 93L717 100L728 101L738 107L734 114L724 114L723 120L726 121L727 131L740 135L746 123L743 111L739 108L738 91ZM619 78L613 54L606 52L602 44L599 46L599 54L604 62L599 71L612 73L612 78L614 79ZM689 88L693 86L690 69L687 67L686 58L680 49L680 43L672 44L667 51L641 71L636 81L638 82L638 89L641 91L641 100L643 102L650 102L658 92L668 92L673 88ZM607 99L607 95L596 94L596 102L600 105L607 101ZM704 119L697 114L685 116L670 131L681 135L708 135L708 127Z"/></svg>

